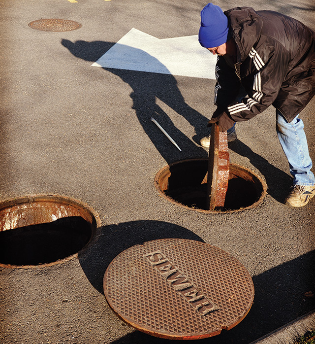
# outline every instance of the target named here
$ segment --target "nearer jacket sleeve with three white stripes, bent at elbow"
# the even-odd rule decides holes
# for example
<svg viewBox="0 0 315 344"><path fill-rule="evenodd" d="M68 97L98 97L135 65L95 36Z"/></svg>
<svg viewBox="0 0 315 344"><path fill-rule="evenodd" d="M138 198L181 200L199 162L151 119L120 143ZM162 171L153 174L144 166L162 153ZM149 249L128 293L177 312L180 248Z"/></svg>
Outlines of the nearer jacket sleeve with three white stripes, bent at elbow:
<svg viewBox="0 0 315 344"><path fill-rule="evenodd" d="M248 66L245 77L248 95L240 101L233 101L227 106L229 116L235 121L247 121L263 112L277 98L289 61L287 51L280 44L260 47L260 54L252 48L244 61ZM241 68L244 68L242 66Z"/></svg>

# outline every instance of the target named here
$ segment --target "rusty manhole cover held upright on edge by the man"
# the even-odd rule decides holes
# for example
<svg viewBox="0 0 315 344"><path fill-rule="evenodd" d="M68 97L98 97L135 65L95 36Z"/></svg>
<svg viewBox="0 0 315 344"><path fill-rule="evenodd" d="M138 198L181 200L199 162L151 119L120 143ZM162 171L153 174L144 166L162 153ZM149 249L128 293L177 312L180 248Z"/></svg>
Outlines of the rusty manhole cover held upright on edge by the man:
<svg viewBox="0 0 315 344"><path fill-rule="evenodd" d="M224 206L228 186L229 167L230 160L227 146L227 133L221 133L218 124L214 123L212 125L210 137L206 197L206 206L209 210Z"/></svg>

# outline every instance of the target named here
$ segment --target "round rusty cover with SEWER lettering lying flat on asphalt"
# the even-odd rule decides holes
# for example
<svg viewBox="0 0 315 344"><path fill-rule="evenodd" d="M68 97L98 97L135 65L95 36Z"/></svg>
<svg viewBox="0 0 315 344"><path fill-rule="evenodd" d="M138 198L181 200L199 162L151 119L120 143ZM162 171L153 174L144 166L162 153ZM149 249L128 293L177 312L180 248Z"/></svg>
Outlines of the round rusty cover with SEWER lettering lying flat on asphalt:
<svg viewBox="0 0 315 344"><path fill-rule="evenodd" d="M178 340L212 337L241 322L254 287L244 266L210 244L160 239L120 253L104 275L105 297L127 324Z"/></svg>

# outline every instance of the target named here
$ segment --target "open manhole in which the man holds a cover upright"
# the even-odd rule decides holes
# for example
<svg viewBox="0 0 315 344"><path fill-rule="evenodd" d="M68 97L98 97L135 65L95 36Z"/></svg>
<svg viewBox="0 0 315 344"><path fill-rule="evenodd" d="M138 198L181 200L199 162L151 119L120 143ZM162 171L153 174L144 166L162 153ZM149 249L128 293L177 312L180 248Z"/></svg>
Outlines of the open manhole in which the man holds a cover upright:
<svg viewBox="0 0 315 344"><path fill-rule="evenodd" d="M266 195L265 182L252 171L230 164L224 206L206 209L208 159L189 159L162 168L155 177L159 194L180 206L211 213L233 212L258 206Z"/></svg>

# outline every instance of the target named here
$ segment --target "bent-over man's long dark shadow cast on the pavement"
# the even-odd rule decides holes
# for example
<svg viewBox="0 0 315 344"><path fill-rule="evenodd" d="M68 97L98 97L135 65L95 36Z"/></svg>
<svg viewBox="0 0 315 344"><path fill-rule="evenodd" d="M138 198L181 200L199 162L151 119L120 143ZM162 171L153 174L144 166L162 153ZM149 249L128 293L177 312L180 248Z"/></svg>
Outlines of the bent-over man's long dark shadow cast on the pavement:
<svg viewBox="0 0 315 344"><path fill-rule="evenodd" d="M62 44L74 56L95 62L115 43L104 41L86 42L83 40L71 42L63 39ZM121 48L124 51L124 46ZM144 57L144 61L147 64L154 64L159 72L104 69L121 77L132 88L130 94L130 98L133 101L132 108L136 111L139 122L159 153L167 163L187 158L207 157L207 152L195 142L199 142L200 138L209 135L209 129L206 127L208 119L185 102L183 95L178 89L175 77L155 57L140 49L130 47L126 47L126 49L129 51L128 58L132 59L132 56L139 56L141 54ZM194 127L195 136L193 140L195 142L175 127L168 114L157 104L157 98L179 115L185 117L189 124ZM151 121L151 117L156 119L162 128L175 140L182 152L162 134Z"/></svg>

